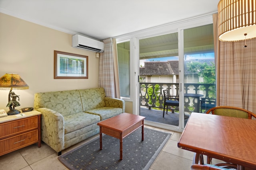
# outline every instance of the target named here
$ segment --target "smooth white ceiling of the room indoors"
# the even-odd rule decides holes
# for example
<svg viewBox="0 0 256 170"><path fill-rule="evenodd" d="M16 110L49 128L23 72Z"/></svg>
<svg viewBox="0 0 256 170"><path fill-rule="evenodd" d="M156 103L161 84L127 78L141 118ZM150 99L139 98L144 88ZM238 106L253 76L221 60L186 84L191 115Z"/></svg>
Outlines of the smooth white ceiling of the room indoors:
<svg viewBox="0 0 256 170"><path fill-rule="evenodd" d="M0 0L0 12L98 40L217 12L219 0Z"/></svg>

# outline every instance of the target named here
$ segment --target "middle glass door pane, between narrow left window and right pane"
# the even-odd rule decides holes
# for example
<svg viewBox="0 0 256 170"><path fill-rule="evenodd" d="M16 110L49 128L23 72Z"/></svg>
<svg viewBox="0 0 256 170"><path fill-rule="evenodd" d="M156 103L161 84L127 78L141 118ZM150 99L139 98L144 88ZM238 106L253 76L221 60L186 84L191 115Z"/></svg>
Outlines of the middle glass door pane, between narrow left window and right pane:
<svg viewBox="0 0 256 170"><path fill-rule="evenodd" d="M179 126L179 107L164 111L164 90L178 98L178 33L139 40L140 45L140 115L150 123ZM178 100L176 100L178 102Z"/></svg>

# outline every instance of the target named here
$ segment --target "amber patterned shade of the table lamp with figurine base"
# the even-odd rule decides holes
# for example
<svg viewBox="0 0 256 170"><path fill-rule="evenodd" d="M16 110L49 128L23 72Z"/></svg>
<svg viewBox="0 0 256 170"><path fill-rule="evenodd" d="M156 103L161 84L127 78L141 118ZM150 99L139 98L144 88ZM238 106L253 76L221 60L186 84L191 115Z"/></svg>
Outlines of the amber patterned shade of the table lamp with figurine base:
<svg viewBox="0 0 256 170"><path fill-rule="evenodd" d="M19 74L6 73L0 78L0 90L23 90L29 86L22 80Z"/></svg>

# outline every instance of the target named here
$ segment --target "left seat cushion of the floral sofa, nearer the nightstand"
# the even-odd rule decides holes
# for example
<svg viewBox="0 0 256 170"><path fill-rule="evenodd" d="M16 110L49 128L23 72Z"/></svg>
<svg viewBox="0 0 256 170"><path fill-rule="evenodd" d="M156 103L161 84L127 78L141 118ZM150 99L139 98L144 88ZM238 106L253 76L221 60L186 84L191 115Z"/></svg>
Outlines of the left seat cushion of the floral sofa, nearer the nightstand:
<svg viewBox="0 0 256 170"><path fill-rule="evenodd" d="M64 116L65 134L82 129L100 121L100 116L84 112Z"/></svg>

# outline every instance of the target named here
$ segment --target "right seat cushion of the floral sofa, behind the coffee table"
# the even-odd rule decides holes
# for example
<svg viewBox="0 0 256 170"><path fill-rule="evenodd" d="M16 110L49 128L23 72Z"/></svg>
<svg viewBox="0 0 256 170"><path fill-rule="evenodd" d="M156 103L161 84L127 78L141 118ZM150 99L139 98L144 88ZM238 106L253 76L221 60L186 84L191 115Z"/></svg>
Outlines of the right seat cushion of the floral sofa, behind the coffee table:
<svg viewBox="0 0 256 170"><path fill-rule="evenodd" d="M100 120L105 120L110 117L119 115L120 113L122 113L122 111L123 109L119 107L100 107L96 109L87 110L86 113L99 115Z"/></svg>

